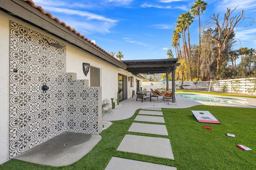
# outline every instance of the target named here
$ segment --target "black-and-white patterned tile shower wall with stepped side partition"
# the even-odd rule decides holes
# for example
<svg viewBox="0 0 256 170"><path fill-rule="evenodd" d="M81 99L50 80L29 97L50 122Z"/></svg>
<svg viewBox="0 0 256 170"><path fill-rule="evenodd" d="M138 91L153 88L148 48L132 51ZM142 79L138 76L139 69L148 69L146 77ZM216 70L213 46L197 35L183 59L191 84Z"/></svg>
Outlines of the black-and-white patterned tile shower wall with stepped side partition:
<svg viewBox="0 0 256 170"><path fill-rule="evenodd" d="M10 21L10 158L64 131L99 133L101 89L74 79L66 45Z"/></svg>

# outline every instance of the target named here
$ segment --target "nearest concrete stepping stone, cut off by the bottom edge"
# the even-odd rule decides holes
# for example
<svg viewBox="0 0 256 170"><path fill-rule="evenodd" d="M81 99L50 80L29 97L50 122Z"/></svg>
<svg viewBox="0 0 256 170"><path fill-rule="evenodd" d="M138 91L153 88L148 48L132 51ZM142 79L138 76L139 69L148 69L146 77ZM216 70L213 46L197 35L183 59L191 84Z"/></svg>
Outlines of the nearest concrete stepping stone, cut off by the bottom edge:
<svg viewBox="0 0 256 170"><path fill-rule="evenodd" d="M177 170L176 167L112 157L105 170Z"/></svg>

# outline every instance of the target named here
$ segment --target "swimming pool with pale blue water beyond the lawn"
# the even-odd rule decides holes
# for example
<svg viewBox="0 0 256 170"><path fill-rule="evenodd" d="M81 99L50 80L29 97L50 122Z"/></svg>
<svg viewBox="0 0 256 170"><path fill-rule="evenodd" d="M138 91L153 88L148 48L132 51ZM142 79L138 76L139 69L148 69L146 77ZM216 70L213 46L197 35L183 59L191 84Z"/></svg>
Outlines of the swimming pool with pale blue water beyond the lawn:
<svg viewBox="0 0 256 170"><path fill-rule="evenodd" d="M194 93L176 93L175 95L185 97L194 101L204 101L210 103L224 103L224 104L246 104L246 99L216 97L212 95L194 94Z"/></svg>

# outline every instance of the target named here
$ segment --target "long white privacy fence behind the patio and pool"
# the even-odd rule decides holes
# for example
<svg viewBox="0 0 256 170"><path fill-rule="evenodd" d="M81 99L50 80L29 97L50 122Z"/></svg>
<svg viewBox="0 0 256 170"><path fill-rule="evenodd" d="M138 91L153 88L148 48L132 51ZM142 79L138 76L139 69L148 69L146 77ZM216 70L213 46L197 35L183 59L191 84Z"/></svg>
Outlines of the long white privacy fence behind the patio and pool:
<svg viewBox="0 0 256 170"><path fill-rule="evenodd" d="M183 81L181 84L181 81L175 81L175 89L208 90L210 87L210 81ZM143 81L142 89L166 89L166 81ZM172 89L172 81L169 81L169 89ZM256 95L256 78L212 81L210 91Z"/></svg>

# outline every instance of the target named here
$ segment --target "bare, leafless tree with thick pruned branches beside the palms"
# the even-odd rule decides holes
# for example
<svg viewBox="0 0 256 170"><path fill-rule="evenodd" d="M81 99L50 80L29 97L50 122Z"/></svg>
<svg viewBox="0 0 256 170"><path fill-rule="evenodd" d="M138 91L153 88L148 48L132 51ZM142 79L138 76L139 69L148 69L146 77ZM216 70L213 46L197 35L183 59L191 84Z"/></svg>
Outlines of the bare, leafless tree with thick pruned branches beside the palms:
<svg viewBox="0 0 256 170"><path fill-rule="evenodd" d="M207 22L207 26L214 28L214 30L217 31L216 34L218 34L216 37L215 34L212 35L208 34L209 32L205 32L205 34L208 34L208 36L210 36L210 38L212 38L212 40L217 44L217 72L220 71L220 67L222 66L224 51L229 47L230 43L234 41L234 36L233 38L230 38L230 36L234 35L234 28L236 24L243 19L244 11L242 10L241 14L238 16L231 16L234 10L230 11L230 9L227 9L227 13L224 14L224 20L222 21L219 21L219 14L217 16L213 14Z"/></svg>

